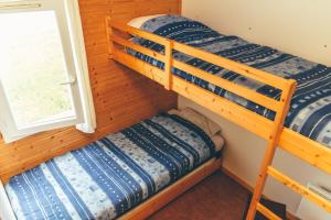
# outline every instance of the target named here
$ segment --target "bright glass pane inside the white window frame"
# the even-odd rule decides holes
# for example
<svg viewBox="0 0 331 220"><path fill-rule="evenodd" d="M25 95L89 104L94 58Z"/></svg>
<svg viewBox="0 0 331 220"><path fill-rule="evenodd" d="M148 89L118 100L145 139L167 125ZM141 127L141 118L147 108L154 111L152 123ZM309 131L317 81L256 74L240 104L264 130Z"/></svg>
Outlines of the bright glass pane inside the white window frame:
<svg viewBox="0 0 331 220"><path fill-rule="evenodd" d="M54 11L0 14L0 77L18 128L75 116Z"/></svg>

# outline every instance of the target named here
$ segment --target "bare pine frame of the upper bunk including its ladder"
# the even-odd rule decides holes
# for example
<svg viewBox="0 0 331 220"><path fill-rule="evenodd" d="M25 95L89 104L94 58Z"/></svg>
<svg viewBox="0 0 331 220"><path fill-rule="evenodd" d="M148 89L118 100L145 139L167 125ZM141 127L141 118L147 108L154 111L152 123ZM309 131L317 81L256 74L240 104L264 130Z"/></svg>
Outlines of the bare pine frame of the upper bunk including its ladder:
<svg viewBox="0 0 331 220"><path fill-rule="evenodd" d="M316 202L327 211L331 212L331 202L322 198L321 196L309 190L305 186L300 185L290 177L284 175L271 166L273 158L277 146L289 152L292 155L303 160L310 165L320 168L331 174L331 150L322 144L314 142L288 128L284 128L284 121L288 113L291 97L295 92L296 81L292 79L284 79L273 74L252 68L249 66L233 62L231 59L181 44L169 38L131 28L126 23L111 21L110 18L106 18L107 37L109 43L109 58L114 59L141 75L163 85L167 89L173 90L177 94L191 99L192 101L210 109L221 117L245 128L249 132L260 136L268 142L265 158L261 163L260 172L257 177L256 187L254 190L252 204L247 213L247 219L252 220L258 210L269 219L280 219L269 209L259 204L261 193L268 176L279 180L285 186L289 187L293 191L308 198L312 202ZM139 36L164 46L164 54L157 53L134 42L129 38L135 35ZM136 52L140 52L152 58L164 63L164 69L160 69L152 66L130 54L125 50L131 48ZM190 55L192 57L199 57L200 59L207 61L214 65L226 68L228 70L241 74L247 78L270 85L282 91L280 100L268 98L254 90L247 89L243 86L236 85L232 81L223 79L221 77L211 75L204 70L190 66L185 63L177 61L172 57L172 52L178 51ZM266 119L263 116L254 113L244 107L241 107L225 98L222 98L209 90L205 90L192 82L189 82L172 74L172 68L190 73L191 75L210 81L216 86L220 86L233 94L236 94L247 100L261 105L267 109L276 112L274 121ZM167 204L167 202L163 202ZM160 205L161 207L161 205ZM138 207L139 209L139 207ZM152 210L157 210L156 208ZM127 217L142 217L137 216L136 212L129 212ZM147 217L147 216L143 216ZM143 218L142 217L142 218ZM140 219L140 218L139 218Z"/></svg>

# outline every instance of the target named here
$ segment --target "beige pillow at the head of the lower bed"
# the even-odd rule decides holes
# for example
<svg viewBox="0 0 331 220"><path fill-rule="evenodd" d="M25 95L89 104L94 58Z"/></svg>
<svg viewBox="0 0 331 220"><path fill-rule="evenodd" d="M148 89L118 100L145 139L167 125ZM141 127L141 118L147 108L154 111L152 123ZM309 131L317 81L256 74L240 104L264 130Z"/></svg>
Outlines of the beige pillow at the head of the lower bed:
<svg viewBox="0 0 331 220"><path fill-rule="evenodd" d="M183 119L189 120L190 122L201 128L211 138L221 132L221 127L218 124L191 108L184 108L182 110L170 110L169 113L177 114Z"/></svg>

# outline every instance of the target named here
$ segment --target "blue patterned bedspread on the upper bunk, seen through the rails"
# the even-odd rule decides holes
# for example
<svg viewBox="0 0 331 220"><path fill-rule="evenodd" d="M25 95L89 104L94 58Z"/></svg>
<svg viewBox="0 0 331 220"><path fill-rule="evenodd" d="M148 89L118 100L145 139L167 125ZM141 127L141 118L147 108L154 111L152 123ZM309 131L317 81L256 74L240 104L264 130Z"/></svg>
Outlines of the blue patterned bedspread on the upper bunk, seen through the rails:
<svg viewBox="0 0 331 220"><path fill-rule="evenodd" d="M200 22L179 15L163 15L149 20L141 29L284 78L296 79L298 81L298 87L286 119L286 127L327 146L331 146L330 67L308 62L303 58L279 52L268 46L252 44L237 36L223 35ZM139 37L135 37L135 42L163 53L163 47L159 44ZM161 62L140 53L132 51L130 53L134 53L138 58L163 68L163 63ZM270 86L247 79L236 73L182 53L174 52L173 56L179 61L204 69L213 75L223 77L235 84L244 85L247 88L254 89L274 99L279 99L280 91ZM179 69L173 69L173 73L216 95L235 101L256 113L265 116L268 119L275 118L275 112L235 96L209 81L196 78Z"/></svg>

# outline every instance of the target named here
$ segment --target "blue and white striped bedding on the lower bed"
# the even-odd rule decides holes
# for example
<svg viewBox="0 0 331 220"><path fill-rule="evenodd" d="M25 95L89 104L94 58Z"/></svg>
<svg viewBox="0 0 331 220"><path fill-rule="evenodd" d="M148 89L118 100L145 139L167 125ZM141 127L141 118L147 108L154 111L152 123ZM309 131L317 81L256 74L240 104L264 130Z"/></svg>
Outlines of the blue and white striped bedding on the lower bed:
<svg viewBox="0 0 331 220"><path fill-rule="evenodd" d="M21 219L114 219L215 156L211 139L177 116L158 114L12 177Z"/></svg>

